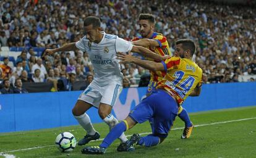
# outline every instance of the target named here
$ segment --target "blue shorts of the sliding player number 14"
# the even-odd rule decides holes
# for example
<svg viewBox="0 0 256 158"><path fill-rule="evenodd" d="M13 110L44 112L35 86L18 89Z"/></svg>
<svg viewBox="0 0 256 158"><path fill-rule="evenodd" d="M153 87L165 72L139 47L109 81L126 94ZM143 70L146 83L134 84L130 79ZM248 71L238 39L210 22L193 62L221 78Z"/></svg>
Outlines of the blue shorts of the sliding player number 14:
<svg viewBox="0 0 256 158"><path fill-rule="evenodd" d="M178 104L166 91L157 89L130 111L129 117L143 123L153 118L153 135L166 137L173 126Z"/></svg>

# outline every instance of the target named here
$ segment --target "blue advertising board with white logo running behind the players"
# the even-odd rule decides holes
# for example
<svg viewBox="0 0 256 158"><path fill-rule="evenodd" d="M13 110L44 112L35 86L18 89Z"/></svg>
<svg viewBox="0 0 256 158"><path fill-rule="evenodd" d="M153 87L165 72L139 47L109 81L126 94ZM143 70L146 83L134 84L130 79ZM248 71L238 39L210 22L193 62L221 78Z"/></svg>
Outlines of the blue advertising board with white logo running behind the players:
<svg viewBox="0 0 256 158"><path fill-rule="evenodd" d="M113 112L119 120L145 97L147 88L123 89ZM221 83L202 86L199 97L189 97L182 105L189 112L256 106L256 82ZM72 107L81 91L0 95L0 132L36 130L77 125ZM97 109L88 115L101 122Z"/></svg>

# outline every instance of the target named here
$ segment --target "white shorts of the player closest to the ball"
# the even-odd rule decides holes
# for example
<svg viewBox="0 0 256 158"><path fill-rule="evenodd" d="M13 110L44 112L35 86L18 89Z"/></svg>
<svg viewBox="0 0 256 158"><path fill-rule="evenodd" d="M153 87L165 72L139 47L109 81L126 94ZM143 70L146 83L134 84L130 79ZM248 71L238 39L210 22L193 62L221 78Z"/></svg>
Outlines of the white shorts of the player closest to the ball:
<svg viewBox="0 0 256 158"><path fill-rule="evenodd" d="M112 81L110 83L99 84L93 80L85 91L80 94L79 100L88 102L96 108L99 107L101 102L113 107L121 91L122 85L120 82Z"/></svg>

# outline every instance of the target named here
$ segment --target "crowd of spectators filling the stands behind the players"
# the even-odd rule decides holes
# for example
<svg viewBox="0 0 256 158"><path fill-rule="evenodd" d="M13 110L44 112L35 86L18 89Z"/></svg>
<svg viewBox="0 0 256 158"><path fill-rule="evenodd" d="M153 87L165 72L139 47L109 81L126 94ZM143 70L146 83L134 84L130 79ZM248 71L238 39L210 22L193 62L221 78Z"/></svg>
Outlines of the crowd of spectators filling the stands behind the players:
<svg viewBox="0 0 256 158"><path fill-rule="evenodd" d="M24 82L67 83L87 81L93 68L87 52L59 52L38 56L33 48L58 48L84 36L83 20L89 15L101 19L106 33L126 40L139 36L140 13L156 17L156 31L174 41L197 41L195 62L203 69L203 83L254 81L256 78L256 9L250 5L217 4L205 1L0 1L0 45L24 47L14 62L0 64L1 93L13 93L11 86ZM1 54L0 54L1 56ZM147 70L134 64L122 65L124 87L147 86ZM140 80L142 78L142 80ZM144 78L144 79L143 79ZM139 83L140 81L140 83ZM21 83L20 83L21 82ZM67 84L69 85L69 84ZM20 87L20 88L21 88ZM19 88L17 93L26 92ZM83 87L85 88L85 87ZM72 90L70 86L66 90Z"/></svg>

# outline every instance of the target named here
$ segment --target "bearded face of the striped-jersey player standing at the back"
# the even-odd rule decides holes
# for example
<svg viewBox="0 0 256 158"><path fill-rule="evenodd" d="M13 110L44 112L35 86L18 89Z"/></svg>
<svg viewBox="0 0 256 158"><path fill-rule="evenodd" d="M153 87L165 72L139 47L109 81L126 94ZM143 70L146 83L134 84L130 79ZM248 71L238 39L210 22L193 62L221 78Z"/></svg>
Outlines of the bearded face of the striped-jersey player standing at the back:
<svg viewBox="0 0 256 158"><path fill-rule="evenodd" d="M142 35L143 38L150 38L150 33L154 29L154 25L148 22L148 20L140 20L140 35Z"/></svg>

